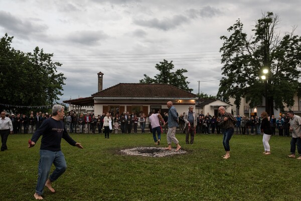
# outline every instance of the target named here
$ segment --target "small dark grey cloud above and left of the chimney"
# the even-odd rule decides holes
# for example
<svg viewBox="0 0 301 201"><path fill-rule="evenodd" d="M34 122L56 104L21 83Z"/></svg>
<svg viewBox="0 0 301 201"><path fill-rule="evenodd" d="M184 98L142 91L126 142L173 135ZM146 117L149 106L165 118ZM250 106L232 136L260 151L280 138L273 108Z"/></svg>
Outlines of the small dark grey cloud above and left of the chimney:
<svg viewBox="0 0 301 201"><path fill-rule="evenodd" d="M82 45L92 45L108 37L103 31L78 31L70 33L67 40Z"/></svg>

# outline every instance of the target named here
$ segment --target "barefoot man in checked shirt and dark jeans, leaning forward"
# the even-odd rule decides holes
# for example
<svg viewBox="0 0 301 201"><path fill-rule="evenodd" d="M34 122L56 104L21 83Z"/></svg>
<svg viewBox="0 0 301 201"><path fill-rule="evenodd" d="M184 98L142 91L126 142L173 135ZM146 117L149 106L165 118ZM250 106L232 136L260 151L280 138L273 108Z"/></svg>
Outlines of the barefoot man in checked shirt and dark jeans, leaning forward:
<svg viewBox="0 0 301 201"><path fill-rule="evenodd" d="M226 151L226 155L222 157L224 159L230 158L230 145L229 141L234 133L234 125L236 124L236 118L233 117L231 113L227 113L224 107L218 108L219 114L221 114L221 121L220 126L224 128L224 138L223 138L223 145Z"/></svg>

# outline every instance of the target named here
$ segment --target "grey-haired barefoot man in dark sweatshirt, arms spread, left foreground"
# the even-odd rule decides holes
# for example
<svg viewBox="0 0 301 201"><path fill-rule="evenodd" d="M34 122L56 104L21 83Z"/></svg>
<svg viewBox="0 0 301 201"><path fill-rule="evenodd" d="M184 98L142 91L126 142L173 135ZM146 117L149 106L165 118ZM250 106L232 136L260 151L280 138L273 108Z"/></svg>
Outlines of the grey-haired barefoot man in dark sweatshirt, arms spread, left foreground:
<svg viewBox="0 0 301 201"><path fill-rule="evenodd" d="M55 192L51 183L59 178L66 170L66 161L61 151L61 140L64 138L70 145L83 148L80 143L75 142L67 133L62 121L64 118L64 107L54 105L52 108L52 117L42 122L40 128L33 134L32 139L28 142L28 147L35 146L39 137L43 135L40 147L40 161L38 169L38 181L36 199L43 199L44 186L47 186L51 192ZM52 163L55 170L48 177Z"/></svg>

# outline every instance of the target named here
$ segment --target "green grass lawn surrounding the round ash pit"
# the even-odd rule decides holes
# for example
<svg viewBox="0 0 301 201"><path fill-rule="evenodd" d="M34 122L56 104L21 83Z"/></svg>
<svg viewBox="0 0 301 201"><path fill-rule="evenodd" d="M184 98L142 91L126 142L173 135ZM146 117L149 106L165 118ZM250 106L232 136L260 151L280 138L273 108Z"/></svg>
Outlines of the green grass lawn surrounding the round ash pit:
<svg viewBox="0 0 301 201"><path fill-rule="evenodd" d="M290 138L272 136L271 155L262 136L234 135L231 157L222 135L197 135L193 145L177 134L188 154L161 158L120 155L124 148L154 145L152 134L70 134L84 149L62 140L66 172L44 190L44 200L299 200L301 161L288 158ZM34 200L39 147L30 134L10 135L0 152L0 199ZM160 147L167 146L162 135ZM175 145L173 144L173 148Z"/></svg>

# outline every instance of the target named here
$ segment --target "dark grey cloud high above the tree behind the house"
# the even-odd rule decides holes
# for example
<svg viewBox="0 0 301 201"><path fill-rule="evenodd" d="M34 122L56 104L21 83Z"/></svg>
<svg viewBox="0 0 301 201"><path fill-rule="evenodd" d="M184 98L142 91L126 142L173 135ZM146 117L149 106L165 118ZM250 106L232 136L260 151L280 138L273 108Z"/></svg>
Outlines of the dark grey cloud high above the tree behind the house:
<svg viewBox="0 0 301 201"><path fill-rule="evenodd" d="M133 22L134 24L139 26L168 31L170 29L175 29L183 23L189 22L189 19L183 15L177 15L173 18L164 18L163 20L158 20L157 18L154 18L152 20L134 20Z"/></svg>

